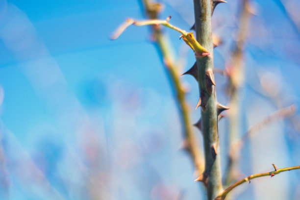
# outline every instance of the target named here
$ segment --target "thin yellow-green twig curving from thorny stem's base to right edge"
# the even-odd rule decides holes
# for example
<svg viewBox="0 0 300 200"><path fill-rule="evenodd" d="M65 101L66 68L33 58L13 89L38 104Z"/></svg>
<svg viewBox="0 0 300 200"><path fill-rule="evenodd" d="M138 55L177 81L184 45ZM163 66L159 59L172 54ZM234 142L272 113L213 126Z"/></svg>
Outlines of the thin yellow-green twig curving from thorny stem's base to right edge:
<svg viewBox="0 0 300 200"><path fill-rule="evenodd" d="M229 186L227 189L225 189L222 193L220 193L218 195L218 197L216 197L214 200L224 200L226 195L231 191L233 190L235 187L245 183L245 182L249 182L250 183L250 180L251 179L254 179L254 178L258 178L258 177L262 177L262 176L275 176L277 174L280 174L281 172L285 172L285 171L290 171L290 170L299 170L300 169L300 166L295 166L295 167L288 167L288 168L282 168L282 169L277 169L277 167L272 164L273 167L274 167L274 171L272 172L267 172L267 173L263 173L263 174L257 174L257 175L249 175L247 176L246 178L234 183L233 185Z"/></svg>

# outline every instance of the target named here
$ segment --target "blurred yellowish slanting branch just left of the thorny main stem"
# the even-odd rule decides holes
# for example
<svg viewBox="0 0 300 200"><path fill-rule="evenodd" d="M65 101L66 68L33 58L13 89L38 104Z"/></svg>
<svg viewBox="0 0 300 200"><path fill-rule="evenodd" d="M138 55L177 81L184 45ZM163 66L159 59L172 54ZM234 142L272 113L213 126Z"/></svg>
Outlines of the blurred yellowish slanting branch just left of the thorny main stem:
<svg viewBox="0 0 300 200"><path fill-rule="evenodd" d="M142 0L142 3L148 17L150 19L156 19L161 8L160 4L153 3L149 0ZM171 54L172 47L169 45L170 42L168 38L162 33L159 26L152 25L151 27L153 39L158 47L159 53L162 55L167 74L172 82L171 86L175 92L185 138L183 141L183 146L185 150L188 150L193 159L196 168L196 174L200 175L200 172L202 172L204 168L202 152L200 151L197 137L191 127L192 123L190 122L189 117L189 106L185 100L185 89L180 81L180 74L175 64L173 55Z"/></svg>

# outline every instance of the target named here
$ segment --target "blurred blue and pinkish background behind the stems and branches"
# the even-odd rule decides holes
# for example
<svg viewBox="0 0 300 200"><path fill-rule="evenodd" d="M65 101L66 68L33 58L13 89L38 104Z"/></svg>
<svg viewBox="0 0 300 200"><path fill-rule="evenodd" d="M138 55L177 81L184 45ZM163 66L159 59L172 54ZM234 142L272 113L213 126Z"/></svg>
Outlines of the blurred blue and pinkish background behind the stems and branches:
<svg viewBox="0 0 300 200"><path fill-rule="evenodd" d="M188 30L192 0L162 0L165 19ZM240 90L241 134L281 107L300 105L300 1L252 0ZM225 69L239 24L239 0L217 6L213 29L223 44L215 67ZM138 0L0 0L0 199L205 199L193 164L180 150L175 99ZM179 34L168 34L182 73L195 62ZM200 110L198 86L189 88L191 118ZM226 77L216 74L226 104ZM244 175L300 165L299 112L260 130L241 150ZM222 170L228 120L219 124ZM201 141L201 134L194 130ZM299 200L300 172L252 180L238 200Z"/></svg>

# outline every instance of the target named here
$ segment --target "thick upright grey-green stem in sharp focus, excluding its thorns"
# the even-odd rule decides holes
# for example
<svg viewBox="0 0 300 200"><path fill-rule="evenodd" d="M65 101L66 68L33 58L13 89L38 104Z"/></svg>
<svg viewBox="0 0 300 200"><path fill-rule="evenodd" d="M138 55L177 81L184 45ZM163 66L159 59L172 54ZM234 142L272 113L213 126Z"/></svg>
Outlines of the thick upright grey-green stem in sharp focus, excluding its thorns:
<svg viewBox="0 0 300 200"><path fill-rule="evenodd" d="M215 86L208 84L207 74L214 82L213 41L211 28L211 0L194 0L196 36L209 56L196 58L201 98L201 131L205 153L205 181L207 199L213 200L222 190L221 162L218 134L218 113Z"/></svg>

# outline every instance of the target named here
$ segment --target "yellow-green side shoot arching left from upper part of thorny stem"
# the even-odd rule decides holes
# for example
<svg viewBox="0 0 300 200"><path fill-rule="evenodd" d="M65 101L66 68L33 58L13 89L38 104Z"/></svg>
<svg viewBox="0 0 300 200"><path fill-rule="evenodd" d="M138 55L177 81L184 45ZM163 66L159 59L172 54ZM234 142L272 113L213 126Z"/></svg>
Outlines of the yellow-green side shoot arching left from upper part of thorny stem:
<svg viewBox="0 0 300 200"><path fill-rule="evenodd" d="M210 55L210 53L205 50L195 39L193 32L186 32L185 30L182 30L181 28L178 28L174 25L171 25L169 23L169 20L171 19L171 16L169 16L166 20L157 20L157 19L151 19L151 20L144 20L144 21L135 21L133 19L127 19L125 23L120 25L118 29L112 34L111 39L117 39L124 31L125 29L130 25L137 25L137 26L143 26L143 25L164 25L166 27L169 27L171 29L174 29L181 33L182 35L180 38L184 40L184 42L192 48L192 50L195 51L196 57L204 57Z"/></svg>

